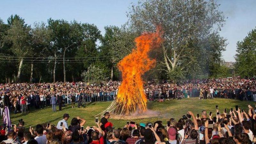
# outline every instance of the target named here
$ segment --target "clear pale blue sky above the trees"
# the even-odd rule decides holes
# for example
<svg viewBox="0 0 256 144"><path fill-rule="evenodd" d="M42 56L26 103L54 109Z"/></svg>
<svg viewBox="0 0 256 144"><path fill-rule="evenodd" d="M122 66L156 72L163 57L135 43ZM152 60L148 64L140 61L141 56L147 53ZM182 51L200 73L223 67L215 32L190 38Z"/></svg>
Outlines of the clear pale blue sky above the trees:
<svg viewBox="0 0 256 144"><path fill-rule="evenodd" d="M104 34L104 26L120 27L128 18L126 12L137 0L2 0L0 18L7 22L11 14L18 14L29 25L46 22L49 18L77 20L95 24ZM217 0L220 10L228 17L220 36L227 39L225 61L235 61L236 42L256 27L256 0Z"/></svg>

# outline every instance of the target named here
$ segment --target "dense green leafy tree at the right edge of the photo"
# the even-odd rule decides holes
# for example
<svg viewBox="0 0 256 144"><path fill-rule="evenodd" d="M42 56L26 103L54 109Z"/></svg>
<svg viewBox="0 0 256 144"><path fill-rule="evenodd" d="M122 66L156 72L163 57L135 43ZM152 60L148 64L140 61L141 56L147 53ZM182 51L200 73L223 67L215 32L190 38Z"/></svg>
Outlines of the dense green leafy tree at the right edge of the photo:
<svg viewBox="0 0 256 144"><path fill-rule="evenodd" d="M256 28L248 33L242 41L237 42L235 55L236 72L242 77L256 75Z"/></svg>

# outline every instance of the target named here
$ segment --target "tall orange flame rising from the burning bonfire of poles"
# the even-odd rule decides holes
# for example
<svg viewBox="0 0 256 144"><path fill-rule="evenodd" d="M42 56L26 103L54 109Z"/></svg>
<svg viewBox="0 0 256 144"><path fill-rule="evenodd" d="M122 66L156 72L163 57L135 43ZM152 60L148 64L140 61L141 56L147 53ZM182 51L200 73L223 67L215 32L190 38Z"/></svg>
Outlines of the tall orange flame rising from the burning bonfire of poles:
<svg viewBox="0 0 256 144"><path fill-rule="evenodd" d="M156 60L150 60L148 52L160 45L161 35L158 27L155 33L144 33L135 38L137 49L133 49L132 53L118 63L123 81L116 97L116 113L128 115L137 108L139 112L147 110L147 98L143 91L144 81L141 76L155 66Z"/></svg>

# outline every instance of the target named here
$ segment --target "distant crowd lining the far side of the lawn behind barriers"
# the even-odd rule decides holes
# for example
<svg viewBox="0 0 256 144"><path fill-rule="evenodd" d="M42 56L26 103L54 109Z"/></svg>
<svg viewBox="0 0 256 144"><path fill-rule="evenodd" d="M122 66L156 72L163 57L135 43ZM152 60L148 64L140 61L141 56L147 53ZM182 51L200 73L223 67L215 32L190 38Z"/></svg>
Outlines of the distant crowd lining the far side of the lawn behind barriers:
<svg viewBox="0 0 256 144"><path fill-rule="evenodd" d="M148 100L170 100L189 97L207 98L229 98L237 100L256 101L256 81L242 78L219 78L191 80L182 83L148 82L144 85L144 91ZM101 84L88 84L85 82L73 83L13 83L0 84L0 109L3 115L3 100L6 90L10 99L10 112L29 112L30 107L45 108L52 106L56 111L67 104L75 107L85 107L86 103L92 101L114 100L119 81L102 82ZM10 106L9 106L10 105Z"/></svg>

